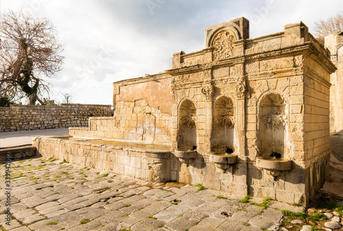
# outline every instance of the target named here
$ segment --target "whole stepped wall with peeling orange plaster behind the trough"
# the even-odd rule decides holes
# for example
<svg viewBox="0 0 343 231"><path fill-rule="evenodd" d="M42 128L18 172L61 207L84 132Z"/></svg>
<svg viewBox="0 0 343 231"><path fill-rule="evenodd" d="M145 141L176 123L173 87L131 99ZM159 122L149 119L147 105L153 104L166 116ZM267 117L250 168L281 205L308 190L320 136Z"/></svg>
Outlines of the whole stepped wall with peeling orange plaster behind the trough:
<svg viewBox="0 0 343 231"><path fill-rule="evenodd" d="M114 117L93 117L88 129L72 128L69 134L170 145L172 93L169 86L170 77L166 75L137 78L130 84L119 82L114 86Z"/></svg>

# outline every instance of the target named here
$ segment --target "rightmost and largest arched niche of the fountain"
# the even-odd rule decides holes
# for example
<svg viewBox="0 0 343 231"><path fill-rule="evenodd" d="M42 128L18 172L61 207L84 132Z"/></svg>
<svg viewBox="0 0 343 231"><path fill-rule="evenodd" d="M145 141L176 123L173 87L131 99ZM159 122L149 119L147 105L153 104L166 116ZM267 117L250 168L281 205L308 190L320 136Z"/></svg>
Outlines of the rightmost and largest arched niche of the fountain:
<svg viewBox="0 0 343 231"><path fill-rule="evenodd" d="M288 105L283 96L270 93L259 104L259 156L285 158Z"/></svg>

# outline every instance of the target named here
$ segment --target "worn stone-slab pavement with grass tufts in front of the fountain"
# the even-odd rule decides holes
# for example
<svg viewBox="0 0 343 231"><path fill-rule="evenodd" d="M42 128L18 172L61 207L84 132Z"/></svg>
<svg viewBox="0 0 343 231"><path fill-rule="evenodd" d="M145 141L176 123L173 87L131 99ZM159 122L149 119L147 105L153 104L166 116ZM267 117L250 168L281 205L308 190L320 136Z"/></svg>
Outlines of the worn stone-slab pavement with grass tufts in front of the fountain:
<svg viewBox="0 0 343 231"><path fill-rule="evenodd" d="M281 209L303 210L274 201L263 209L217 191L198 191L197 186L151 185L46 158L12 162L11 205L6 206L3 169L2 230L261 231L275 230ZM5 223L7 208L10 226Z"/></svg>

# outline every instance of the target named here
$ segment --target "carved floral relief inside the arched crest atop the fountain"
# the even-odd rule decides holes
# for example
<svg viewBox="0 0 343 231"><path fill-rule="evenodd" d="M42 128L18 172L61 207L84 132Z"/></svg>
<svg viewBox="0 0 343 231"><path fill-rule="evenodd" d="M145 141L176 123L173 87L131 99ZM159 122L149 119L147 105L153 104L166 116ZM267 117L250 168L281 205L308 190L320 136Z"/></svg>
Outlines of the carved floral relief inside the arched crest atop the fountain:
<svg viewBox="0 0 343 231"><path fill-rule="evenodd" d="M212 41L213 60L224 60L234 56L234 41L235 37L230 32L222 31L216 34Z"/></svg>

